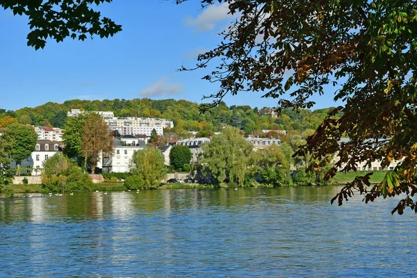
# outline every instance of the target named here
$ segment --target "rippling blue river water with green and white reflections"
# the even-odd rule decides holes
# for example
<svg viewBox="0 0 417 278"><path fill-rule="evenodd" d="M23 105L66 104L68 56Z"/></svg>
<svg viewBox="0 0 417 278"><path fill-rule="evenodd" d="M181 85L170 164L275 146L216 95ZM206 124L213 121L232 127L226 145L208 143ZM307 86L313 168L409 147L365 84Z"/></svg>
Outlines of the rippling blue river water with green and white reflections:
<svg viewBox="0 0 417 278"><path fill-rule="evenodd" d="M0 276L417 276L417 215L391 215L391 199L331 205L338 189L3 199Z"/></svg>

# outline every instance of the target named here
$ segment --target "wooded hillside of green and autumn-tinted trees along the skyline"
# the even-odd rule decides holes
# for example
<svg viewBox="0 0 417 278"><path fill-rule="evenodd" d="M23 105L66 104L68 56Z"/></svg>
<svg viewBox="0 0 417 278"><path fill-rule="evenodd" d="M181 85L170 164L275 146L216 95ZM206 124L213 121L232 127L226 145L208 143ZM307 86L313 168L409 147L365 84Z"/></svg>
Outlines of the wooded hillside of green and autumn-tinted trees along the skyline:
<svg viewBox="0 0 417 278"><path fill-rule="evenodd" d="M224 124L237 127L245 134L255 133L262 129L285 129L302 134L306 130L316 129L321 120L329 112L329 108L316 111L292 111L284 109L280 117L265 115L265 108L250 106L227 106L221 102L219 106L206 113L200 113L199 104L186 100L152 100L152 99L104 99L69 100L63 104L48 102L35 108L22 108L17 111L0 109L1 120L6 116L17 119L21 124L35 126L63 127L70 109L85 111L113 111L116 117L162 117L174 120L172 132L185 131L220 131Z"/></svg>

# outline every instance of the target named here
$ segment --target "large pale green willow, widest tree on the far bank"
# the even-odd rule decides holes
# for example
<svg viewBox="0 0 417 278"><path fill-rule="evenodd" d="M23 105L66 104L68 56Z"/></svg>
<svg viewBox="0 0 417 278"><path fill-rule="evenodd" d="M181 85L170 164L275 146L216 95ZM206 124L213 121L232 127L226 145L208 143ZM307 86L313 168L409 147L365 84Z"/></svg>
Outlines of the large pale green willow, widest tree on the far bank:
<svg viewBox="0 0 417 278"><path fill-rule="evenodd" d="M252 146L239 129L227 126L210 142L204 143L202 150L201 163L213 178L222 182L228 177L230 181L243 185Z"/></svg>

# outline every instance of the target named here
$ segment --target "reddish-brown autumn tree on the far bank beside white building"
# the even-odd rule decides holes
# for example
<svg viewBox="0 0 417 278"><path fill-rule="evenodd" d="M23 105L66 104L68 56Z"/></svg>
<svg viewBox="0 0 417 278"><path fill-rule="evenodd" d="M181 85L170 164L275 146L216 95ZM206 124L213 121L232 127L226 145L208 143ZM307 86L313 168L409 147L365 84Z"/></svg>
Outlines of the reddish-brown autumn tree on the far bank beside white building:
<svg viewBox="0 0 417 278"><path fill-rule="evenodd" d="M100 115L90 113L85 120L81 139L84 166L86 168L86 163L89 161L91 172L94 174L100 155L113 152L113 134L108 130L107 123Z"/></svg>

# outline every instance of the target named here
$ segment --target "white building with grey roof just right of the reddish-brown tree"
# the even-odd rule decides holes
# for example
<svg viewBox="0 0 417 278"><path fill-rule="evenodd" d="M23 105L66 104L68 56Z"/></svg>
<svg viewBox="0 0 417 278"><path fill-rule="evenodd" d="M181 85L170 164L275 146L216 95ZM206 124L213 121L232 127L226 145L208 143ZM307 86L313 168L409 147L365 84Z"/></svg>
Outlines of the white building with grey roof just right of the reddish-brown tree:
<svg viewBox="0 0 417 278"><path fill-rule="evenodd" d="M131 135L115 138L113 145L113 155L104 157L101 163L104 173L129 172L129 163L133 154L146 147L145 141Z"/></svg>

